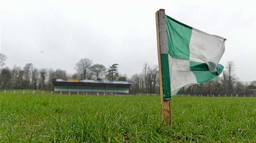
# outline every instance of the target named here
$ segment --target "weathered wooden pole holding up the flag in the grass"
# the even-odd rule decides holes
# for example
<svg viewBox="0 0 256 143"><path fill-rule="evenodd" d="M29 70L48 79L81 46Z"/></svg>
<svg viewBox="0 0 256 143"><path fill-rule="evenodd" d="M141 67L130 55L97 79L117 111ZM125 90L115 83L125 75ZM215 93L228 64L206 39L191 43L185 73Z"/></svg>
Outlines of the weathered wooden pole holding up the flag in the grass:
<svg viewBox="0 0 256 143"><path fill-rule="evenodd" d="M160 9L156 12L156 37L157 37L157 53L158 53L158 68L159 68L159 83L160 83L160 97L162 106L162 119L168 124L172 125L172 104L171 100L165 100L163 97L163 75L162 75L162 60L161 53L168 51L167 36L166 36L166 18L165 10Z"/></svg>

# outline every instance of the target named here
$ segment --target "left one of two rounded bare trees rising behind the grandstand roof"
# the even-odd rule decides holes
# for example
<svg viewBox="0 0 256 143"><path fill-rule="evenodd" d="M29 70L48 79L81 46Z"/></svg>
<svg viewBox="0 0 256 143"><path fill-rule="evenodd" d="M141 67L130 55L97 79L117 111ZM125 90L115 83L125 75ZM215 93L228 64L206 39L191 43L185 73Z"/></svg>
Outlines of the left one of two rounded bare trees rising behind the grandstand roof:
<svg viewBox="0 0 256 143"><path fill-rule="evenodd" d="M81 79L87 79L92 60L84 58L76 63L75 69L81 75Z"/></svg>

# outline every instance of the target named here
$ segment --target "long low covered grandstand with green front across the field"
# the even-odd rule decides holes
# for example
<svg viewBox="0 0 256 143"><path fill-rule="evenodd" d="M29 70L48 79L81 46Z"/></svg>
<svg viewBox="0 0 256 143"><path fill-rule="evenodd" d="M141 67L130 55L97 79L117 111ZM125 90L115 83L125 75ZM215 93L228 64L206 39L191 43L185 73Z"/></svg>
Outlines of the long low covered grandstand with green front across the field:
<svg viewBox="0 0 256 143"><path fill-rule="evenodd" d="M125 81L95 81L78 79L53 79L54 91L62 92L87 92L105 94L129 94L132 83Z"/></svg>

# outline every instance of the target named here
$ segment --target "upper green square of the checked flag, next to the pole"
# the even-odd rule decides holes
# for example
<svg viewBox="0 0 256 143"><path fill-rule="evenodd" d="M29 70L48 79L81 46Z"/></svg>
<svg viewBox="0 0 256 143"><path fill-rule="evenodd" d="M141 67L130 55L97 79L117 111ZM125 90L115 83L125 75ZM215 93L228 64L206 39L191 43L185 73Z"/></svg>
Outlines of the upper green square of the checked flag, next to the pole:
<svg viewBox="0 0 256 143"><path fill-rule="evenodd" d="M166 15L166 32L170 56L175 59L189 60L189 43L192 27Z"/></svg>

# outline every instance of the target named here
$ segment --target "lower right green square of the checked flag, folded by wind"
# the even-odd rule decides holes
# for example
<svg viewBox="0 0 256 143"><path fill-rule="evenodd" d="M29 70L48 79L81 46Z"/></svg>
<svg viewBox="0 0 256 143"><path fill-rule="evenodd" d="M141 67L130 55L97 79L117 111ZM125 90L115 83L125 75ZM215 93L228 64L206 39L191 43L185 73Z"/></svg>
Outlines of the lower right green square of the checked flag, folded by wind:
<svg viewBox="0 0 256 143"><path fill-rule="evenodd" d="M216 76L220 75L223 71L223 65L218 64L217 71L211 73L208 65L205 63L189 61L190 70L194 73L197 83L204 83L213 80Z"/></svg>

